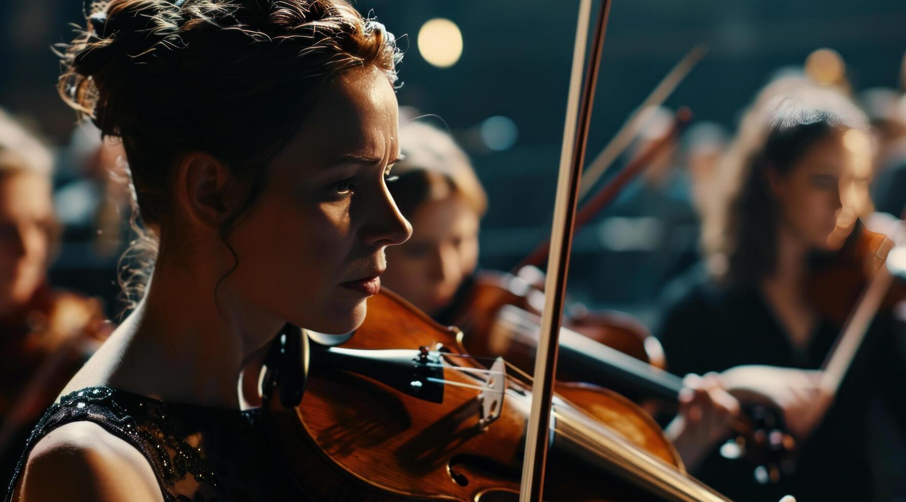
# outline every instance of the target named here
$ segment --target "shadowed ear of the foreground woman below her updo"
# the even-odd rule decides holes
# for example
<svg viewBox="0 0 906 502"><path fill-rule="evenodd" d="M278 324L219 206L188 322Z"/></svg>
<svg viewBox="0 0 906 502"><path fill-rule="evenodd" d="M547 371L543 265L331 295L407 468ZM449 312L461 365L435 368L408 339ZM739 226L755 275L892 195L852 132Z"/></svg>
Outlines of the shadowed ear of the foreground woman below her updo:
<svg viewBox="0 0 906 502"><path fill-rule="evenodd" d="M226 163L202 152L184 155L176 179L178 207L192 227L219 231L236 210L236 184Z"/></svg>

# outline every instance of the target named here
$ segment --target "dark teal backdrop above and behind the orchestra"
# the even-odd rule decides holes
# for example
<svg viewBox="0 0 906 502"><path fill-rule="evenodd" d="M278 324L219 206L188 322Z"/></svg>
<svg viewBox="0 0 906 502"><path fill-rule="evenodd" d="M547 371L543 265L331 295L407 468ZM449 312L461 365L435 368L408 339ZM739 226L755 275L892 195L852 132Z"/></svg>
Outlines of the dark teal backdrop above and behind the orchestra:
<svg viewBox="0 0 906 502"><path fill-rule="evenodd" d="M578 2L371 0L357 5L363 13L373 10L405 49L400 104L437 114L473 155L490 199L481 264L514 265L549 232ZM419 27L434 17L453 21L463 34L462 57L450 68L429 65L417 48ZM59 64L51 45L71 38L72 23L82 23L82 4L72 0L16 0L0 18L0 106L56 144L68 140L74 117L54 89ZM819 47L842 54L854 91L898 87L906 2L615 0L589 157L696 43L707 43L708 55L667 105L688 105L697 120L732 128L740 109L776 69L801 65ZM469 140L494 115L516 123L518 139L510 150L477 149ZM94 260L72 242L67 246L55 267L59 280L97 289L89 293L115 292L110 260ZM615 255L605 252L593 228L583 232L574 255L583 274L573 277L573 294L650 320L660 285L631 287L640 280L635 267L643 264Z"/></svg>

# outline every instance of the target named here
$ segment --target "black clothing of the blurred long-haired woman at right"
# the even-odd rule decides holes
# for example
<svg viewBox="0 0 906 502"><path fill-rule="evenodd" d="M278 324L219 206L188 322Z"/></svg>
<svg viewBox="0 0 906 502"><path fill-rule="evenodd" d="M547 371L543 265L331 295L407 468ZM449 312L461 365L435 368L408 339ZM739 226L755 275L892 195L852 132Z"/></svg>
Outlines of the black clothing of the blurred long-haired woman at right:
<svg viewBox="0 0 906 502"><path fill-rule="evenodd" d="M657 334L670 372L721 372L743 364L818 369L840 333L827 319L815 323L807 350L797 351L765 297L755 287L693 285L673 304ZM734 500L872 500L866 449L872 400L887 401L906 430L906 333L891 315L872 323L834 404L812 436L800 442L796 470L776 485L759 486L751 466L713 449L696 476Z"/></svg>

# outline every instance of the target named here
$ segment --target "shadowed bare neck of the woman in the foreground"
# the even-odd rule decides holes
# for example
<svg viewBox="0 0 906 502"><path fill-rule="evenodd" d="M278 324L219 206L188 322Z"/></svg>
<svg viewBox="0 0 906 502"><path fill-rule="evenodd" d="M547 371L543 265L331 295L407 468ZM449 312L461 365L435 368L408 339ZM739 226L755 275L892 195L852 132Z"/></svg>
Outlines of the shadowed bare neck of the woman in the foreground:
<svg viewBox="0 0 906 502"><path fill-rule="evenodd" d="M282 323L231 297L227 287L215 299L218 278L159 263L139 308L111 337L120 350L110 355L119 363L107 383L166 401L257 404L265 345Z"/></svg>

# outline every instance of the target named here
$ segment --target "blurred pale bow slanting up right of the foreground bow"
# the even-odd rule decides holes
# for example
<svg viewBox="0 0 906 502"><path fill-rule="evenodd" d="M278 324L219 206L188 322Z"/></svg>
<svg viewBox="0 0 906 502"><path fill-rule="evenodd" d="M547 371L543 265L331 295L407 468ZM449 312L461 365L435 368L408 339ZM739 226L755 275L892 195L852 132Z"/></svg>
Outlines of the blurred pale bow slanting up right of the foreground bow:
<svg viewBox="0 0 906 502"><path fill-rule="evenodd" d="M579 189L579 198L584 198L588 195L588 192L592 190L594 184L598 182L599 179L607 172L613 161L620 157L623 151L629 148L629 145L632 139L639 133L642 126L645 125L649 117L649 110L653 106L660 106L667 101L667 98L670 97L670 94L676 90L679 86L679 82L682 82L689 72L695 68L695 65L705 57L705 54L708 53L708 46L704 43L699 43L698 45L689 49L689 52L679 60L679 63L673 66L667 75L658 83L651 94L645 98L645 101L641 101L641 104L635 111L632 112L629 119L623 122L623 125L620 126L620 130L617 130L617 133L613 135L613 138L607 143L607 145L601 150L601 153L592 160L592 163L589 164L588 169L585 169L583 173L583 182L582 188Z"/></svg>

